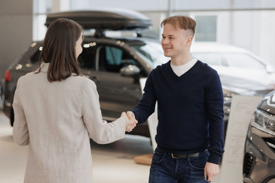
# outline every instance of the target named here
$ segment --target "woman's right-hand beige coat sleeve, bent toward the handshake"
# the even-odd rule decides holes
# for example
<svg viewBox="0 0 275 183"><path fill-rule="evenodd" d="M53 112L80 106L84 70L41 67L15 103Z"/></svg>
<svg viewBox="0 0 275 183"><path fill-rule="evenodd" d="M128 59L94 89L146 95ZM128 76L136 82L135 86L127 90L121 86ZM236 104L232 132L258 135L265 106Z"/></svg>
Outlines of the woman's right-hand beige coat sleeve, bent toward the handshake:
<svg viewBox="0 0 275 183"><path fill-rule="evenodd" d="M120 117L111 123L102 119L96 84L91 80L83 87L81 112L89 137L96 143L112 143L124 138L126 118Z"/></svg>

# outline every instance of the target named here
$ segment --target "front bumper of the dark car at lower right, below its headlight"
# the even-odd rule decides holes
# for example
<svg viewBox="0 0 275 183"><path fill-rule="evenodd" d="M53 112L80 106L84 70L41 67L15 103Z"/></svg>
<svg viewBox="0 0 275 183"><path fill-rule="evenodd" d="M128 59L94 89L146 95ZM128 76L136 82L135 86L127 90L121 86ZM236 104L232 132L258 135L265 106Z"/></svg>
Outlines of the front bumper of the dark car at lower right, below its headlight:
<svg viewBox="0 0 275 183"><path fill-rule="evenodd" d="M245 141L243 182L275 182L274 138L255 127L249 127Z"/></svg>

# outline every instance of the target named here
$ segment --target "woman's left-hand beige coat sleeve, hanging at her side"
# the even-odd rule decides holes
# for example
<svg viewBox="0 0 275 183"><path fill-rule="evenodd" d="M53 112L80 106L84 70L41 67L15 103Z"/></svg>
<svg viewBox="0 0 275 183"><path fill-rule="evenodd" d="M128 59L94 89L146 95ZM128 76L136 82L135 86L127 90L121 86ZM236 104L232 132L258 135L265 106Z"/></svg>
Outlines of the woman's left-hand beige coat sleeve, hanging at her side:
<svg viewBox="0 0 275 183"><path fill-rule="evenodd" d="M19 78L17 82L17 89L14 93L14 99L12 103L12 108L14 110L14 125L12 130L12 135L14 142L18 145L28 145L29 143L29 130L28 124L25 119L25 114L21 105L21 80Z"/></svg>

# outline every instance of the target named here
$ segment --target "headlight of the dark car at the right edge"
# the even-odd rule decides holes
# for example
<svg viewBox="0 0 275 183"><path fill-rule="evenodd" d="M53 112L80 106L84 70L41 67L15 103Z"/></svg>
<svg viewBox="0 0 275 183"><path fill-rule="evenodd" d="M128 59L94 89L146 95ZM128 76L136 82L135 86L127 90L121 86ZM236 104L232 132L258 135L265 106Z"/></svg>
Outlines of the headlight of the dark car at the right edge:
<svg viewBox="0 0 275 183"><path fill-rule="evenodd" d="M267 134L275 136L275 117L270 114L256 110L252 117L251 125Z"/></svg>

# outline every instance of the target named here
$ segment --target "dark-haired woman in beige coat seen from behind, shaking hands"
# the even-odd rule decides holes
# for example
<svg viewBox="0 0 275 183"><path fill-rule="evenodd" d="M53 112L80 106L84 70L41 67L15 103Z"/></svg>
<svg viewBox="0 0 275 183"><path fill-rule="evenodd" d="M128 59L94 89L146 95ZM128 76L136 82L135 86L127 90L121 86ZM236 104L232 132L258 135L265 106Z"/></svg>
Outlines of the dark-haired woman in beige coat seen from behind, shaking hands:
<svg viewBox="0 0 275 183"><path fill-rule="evenodd" d="M20 77L14 94L14 141L28 145L24 182L92 182L89 138L111 143L136 121L102 120L96 84L79 76L82 29L57 19L47 29L39 69Z"/></svg>

